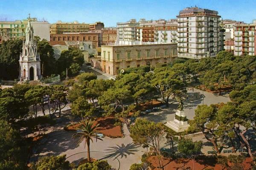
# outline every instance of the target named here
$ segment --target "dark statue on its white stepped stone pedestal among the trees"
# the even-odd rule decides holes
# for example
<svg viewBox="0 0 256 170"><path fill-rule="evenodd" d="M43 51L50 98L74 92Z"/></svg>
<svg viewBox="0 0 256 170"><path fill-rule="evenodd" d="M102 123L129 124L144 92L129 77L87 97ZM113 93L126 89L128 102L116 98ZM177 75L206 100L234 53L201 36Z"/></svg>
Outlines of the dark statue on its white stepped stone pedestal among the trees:
<svg viewBox="0 0 256 170"><path fill-rule="evenodd" d="M180 100L180 105L178 106L178 109L175 113L175 118L172 121L167 122L165 125L175 132L183 132L188 127L189 124L187 122L186 113L183 111L183 101Z"/></svg>

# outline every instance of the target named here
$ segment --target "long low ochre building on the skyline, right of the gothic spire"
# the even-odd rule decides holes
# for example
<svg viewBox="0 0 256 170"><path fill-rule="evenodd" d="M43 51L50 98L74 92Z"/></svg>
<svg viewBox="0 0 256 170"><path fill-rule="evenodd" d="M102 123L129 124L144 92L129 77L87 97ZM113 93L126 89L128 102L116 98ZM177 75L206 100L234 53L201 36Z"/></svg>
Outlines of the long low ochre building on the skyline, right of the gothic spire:
<svg viewBox="0 0 256 170"><path fill-rule="evenodd" d="M63 34L65 32L88 32L89 24L79 23L74 21L73 23L66 23L62 21L57 21L54 24L51 24L50 34Z"/></svg>

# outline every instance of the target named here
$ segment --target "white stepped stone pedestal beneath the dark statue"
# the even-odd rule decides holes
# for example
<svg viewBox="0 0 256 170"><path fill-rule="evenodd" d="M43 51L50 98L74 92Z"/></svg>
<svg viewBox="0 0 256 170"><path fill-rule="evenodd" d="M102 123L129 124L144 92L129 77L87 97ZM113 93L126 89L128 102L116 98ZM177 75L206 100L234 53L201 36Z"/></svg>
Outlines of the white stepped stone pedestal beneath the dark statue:
<svg viewBox="0 0 256 170"><path fill-rule="evenodd" d="M177 110L175 115L180 116L180 117L186 117L186 113L182 110ZM177 120L174 118L174 120L169 121L165 124L167 127L171 128L172 130L174 130L175 132L179 133L179 132L183 132L185 131L187 128L189 128L189 124L187 121L181 121L181 120Z"/></svg>

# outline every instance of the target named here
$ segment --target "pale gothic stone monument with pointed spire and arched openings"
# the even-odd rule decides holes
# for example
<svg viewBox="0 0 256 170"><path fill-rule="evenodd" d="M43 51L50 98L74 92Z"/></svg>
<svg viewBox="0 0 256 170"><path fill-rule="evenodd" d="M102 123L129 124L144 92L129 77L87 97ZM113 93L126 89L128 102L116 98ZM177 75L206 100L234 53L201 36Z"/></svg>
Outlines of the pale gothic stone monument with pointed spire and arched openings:
<svg viewBox="0 0 256 170"><path fill-rule="evenodd" d="M20 82L38 81L41 77L40 56L34 41L34 30L30 23L30 17L28 20L26 41L23 42L22 53L20 54Z"/></svg>

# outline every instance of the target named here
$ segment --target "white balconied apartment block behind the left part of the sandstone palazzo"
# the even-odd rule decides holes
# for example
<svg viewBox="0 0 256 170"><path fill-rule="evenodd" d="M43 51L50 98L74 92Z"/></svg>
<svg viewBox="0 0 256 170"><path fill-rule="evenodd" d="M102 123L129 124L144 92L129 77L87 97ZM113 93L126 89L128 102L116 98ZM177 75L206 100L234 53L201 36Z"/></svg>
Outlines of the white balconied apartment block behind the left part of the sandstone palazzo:
<svg viewBox="0 0 256 170"><path fill-rule="evenodd" d="M117 34L120 41L135 41L136 28L140 25L135 19L131 19L125 23L117 23Z"/></svg>

